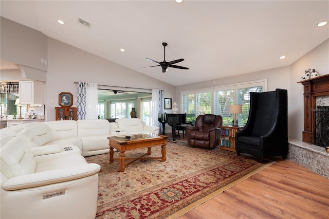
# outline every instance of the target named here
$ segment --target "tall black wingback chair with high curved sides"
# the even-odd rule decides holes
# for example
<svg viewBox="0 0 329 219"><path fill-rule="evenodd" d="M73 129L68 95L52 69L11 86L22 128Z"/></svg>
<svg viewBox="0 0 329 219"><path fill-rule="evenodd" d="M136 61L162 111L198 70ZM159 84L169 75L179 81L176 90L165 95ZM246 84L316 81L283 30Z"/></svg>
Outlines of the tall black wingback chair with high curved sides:
<svg viewBox="0 0 329 219"><path fill-rule="evenodd" d="M235 135L237 155L247 153L263 158L288 153L287 90L250 92L250 111L246 126Z"/></svg>

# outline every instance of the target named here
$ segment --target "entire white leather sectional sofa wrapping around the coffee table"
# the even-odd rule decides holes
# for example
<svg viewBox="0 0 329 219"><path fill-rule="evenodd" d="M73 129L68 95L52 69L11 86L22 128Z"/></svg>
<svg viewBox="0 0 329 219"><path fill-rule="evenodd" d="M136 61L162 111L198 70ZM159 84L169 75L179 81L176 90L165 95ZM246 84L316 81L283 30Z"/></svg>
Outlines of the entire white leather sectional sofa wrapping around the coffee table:
<svg viewBox="0 0 329 219"><path fill-rule="evenodd" d="M1 218L95 218L108 136L158 133L138 118L34 122L1 134ZM82 156L82 155L83 156Z"/></svg>

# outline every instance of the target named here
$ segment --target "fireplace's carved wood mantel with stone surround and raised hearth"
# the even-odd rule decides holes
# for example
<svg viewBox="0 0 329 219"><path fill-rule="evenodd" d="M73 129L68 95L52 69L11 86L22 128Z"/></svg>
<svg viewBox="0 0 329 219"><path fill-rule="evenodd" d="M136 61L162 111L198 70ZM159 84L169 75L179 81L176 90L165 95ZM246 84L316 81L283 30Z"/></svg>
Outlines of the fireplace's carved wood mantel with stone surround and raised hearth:
<svg viewBox="0 0 329 219"><path fill-rule="evenodd" d="M329 153L324 147L314 143L315 109L317 106L329 106L329 75L300 81L304 85L304 131L303 140L289 138L287 159L329 178Z"/></svg>

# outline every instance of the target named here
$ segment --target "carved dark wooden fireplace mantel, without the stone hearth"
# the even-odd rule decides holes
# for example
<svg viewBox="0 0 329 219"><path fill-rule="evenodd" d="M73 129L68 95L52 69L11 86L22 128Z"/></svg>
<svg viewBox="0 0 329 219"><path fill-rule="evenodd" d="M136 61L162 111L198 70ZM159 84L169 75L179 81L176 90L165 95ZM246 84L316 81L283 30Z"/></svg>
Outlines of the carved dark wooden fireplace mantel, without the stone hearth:
<svg viewBox="0 0 329 219"><path fill-rule="evenodd" d="M329 74L299 81L304 85L304 131L303 141L314 143L316 98L329 95Z"/></svg>

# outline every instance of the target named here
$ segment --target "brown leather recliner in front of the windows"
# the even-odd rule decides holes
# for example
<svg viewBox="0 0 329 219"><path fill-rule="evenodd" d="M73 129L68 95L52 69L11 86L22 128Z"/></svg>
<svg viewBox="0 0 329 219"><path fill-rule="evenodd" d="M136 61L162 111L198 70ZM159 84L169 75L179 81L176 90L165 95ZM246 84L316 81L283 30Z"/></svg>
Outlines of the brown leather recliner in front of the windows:
<svg viewBox="0 0 329 219"><path fill-rule="evenodd" d="M187 141L194 147L213 149L220 143L222 116L205 114L199 115L195 126L186 126Z"/></svg>

